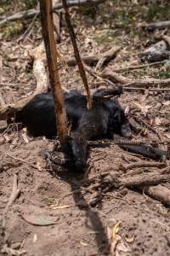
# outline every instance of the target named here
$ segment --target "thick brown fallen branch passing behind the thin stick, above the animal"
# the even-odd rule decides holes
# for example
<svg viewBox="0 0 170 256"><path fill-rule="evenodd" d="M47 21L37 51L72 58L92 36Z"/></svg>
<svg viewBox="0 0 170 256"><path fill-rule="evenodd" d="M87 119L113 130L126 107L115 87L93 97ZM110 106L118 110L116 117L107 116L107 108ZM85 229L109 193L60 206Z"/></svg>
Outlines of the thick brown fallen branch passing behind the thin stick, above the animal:
<svg viewBox="0 0 170 256"><path fill-rule="evenodd" d="M89 65L89 66L93 66L96 65L101 59L104 59L102 65L105 64L105 62L111 61L112 59L114 59L116 57L116 53L121 49L121 47L113 47L107 51L105 51L104 53L101 53L99 55L87 55L87 56L81 56L82 61ZM68 60L66 60L67 65L69 66L76 66L77 65L77 61L75 58L70 58Z"/></svg>

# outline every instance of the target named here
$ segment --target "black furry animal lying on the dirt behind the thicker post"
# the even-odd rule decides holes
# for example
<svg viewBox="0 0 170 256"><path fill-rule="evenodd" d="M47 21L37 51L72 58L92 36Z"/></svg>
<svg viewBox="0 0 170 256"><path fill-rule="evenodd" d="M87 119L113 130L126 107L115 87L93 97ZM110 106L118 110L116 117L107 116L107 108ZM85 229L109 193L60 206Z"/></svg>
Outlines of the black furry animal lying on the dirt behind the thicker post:
<svg viewBox="0 0 170 256"><path fill-rule="evenodd" d="M120 94L117 90L113 95ZM71 123L71 159L75 160L77 170L86 166L87 140L110 137L114 133L130 137L130 126L111 90L98 90L93 96L93 108L88 110L87 97L77 90L65 93L65 110ZM50 92L35 96L26 106L16 113L16 121L22 122L34 137L56 137L54 99Z"/></svg>

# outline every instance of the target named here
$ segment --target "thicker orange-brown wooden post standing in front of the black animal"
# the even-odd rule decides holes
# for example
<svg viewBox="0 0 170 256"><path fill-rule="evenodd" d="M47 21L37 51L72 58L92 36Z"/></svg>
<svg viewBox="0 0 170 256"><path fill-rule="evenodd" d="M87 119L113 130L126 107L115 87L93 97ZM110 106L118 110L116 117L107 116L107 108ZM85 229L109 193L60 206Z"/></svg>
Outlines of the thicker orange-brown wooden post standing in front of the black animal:
<svg viewBox="0 0 170 256"><path fill-rule="evenodd" d="M67 135L67 122L63 90L59 81L59 71L57 63L58 54L54 41L52 0L39 0L39 3L42 21L42 37L44 40L48 61L49 81L54 96L54 103L57 107L57 131L59 133L59 142L61 144L61 147L63 147L65 143L65 136Z"/></svg>

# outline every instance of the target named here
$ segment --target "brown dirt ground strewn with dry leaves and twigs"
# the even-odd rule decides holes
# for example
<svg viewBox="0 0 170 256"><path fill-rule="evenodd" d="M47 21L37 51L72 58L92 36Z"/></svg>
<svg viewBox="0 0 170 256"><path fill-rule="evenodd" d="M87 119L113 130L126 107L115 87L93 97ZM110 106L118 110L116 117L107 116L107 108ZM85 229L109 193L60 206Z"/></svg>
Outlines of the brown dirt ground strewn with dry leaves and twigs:
<svg viewBox="0 0 170 256"><path fill-rule="evenodd" d="M30 2L35 8L34 1ZM169 17L169 1L155 2L107 0L93 9L72 8L71 18L81 54L97 54L113 46L121 46L116 58L106 67L115 70L141 65L139 53L155 43L156 33L161 33L146 32L141 24ZM14 3L7 1L6 4L3 1L0 11L10 15L14 10L32 8L21 3L19 1L14 9ZM31 26L31 32L26 33L30 32L26 40L20 39L31 20L14 22L13 26L15 23L18 26L14 35L9 33L10 23L2 27L1 105L17 102L35 90L36 80L29 50L42 41L38 17ZM170 36L170 29L166 34ZM57 46L60 54L64 58L71 56L71 40L65 27L61 38ZM65 88L83 90L77 67L65 67L62 63L59 73ZM131 79L166 79L170 75L166 64L125 70L120 74ZM108 85L90 74L88 81L92 89ZM148 124L143 125L142 131L133 134L134 139L154 139L158 144L160 137L162 141L170 139L169 99L170 93L168 96L167 92L149 90L125 91L122 94L122 107L138 107L138 117ZM43 148L51 150L54 141L45 137L29 137L26 130L20 131L17 125L10 125L4 130L5 121L1 121L0 125L1 216L12 193L15 174L20 188L20 196L8 207L5 228L0 226L0 255L111 255L111 230L116 233L115 243L112 244L115 253L112 255L170 255L169 207L139 189L108 187L104 182L105 172L116 174L117 177L134 177L141 173L159 173L159 167L134 168L123 172L122 166L138 163L144 158L123 151L111 140L103 140L89 148L88 171L84 175L65 170L51 172L41 151ZM166 149L162 144L159 147ZM165 173L168 172L167 160ZM99 176L101 173L104 173L103 177ZM170 186L169 183L163 185L167 188Z"/></svg>

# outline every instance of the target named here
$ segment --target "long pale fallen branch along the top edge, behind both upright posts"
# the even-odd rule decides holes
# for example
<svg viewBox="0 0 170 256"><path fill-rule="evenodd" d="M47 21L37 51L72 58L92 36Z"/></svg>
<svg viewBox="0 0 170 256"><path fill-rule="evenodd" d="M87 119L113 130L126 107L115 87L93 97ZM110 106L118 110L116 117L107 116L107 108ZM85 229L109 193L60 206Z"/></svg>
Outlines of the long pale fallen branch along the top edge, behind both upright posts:
<svg viewBox="0 0 170 256"><path fill-rule="evenodd" d="M105 2L105 0L71 0L71 2L68 2L67 4L69 7L73 7L73 6L87 5L87 4L98 4L98 3L103 3L103 2ZM63 8L63 4L58 3L58 4L54 5L53 10L59 10L62 8ZM27 11L23 11L23 12L6 17L5 19L0 21L0 25L3 25L9 21L32 18L35 15L40 15L40 10L39 9L29 9Z"/></svg>

